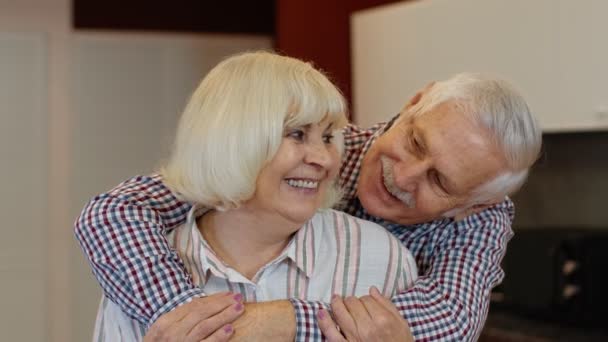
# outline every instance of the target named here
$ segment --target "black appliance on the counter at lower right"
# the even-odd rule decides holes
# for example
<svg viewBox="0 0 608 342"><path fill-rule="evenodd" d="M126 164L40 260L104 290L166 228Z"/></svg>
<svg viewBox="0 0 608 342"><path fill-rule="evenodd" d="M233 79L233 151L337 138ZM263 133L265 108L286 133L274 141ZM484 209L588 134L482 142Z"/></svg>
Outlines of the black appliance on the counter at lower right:
<svg viewBox="0 0 608 342"><path fill-rule="evenodd" d="M517 229L492 310L608 330L608 229Z"/></svg>

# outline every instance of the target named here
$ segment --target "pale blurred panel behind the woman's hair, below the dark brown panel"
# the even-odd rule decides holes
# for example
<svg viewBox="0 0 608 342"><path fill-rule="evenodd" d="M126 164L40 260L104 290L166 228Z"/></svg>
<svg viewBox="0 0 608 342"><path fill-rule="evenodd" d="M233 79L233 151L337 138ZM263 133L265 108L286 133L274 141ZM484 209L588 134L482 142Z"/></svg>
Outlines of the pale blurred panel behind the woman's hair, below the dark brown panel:
<svg viewBox="0 0 608 342"><path fill-rule="evenodd" d="M179 114L222 57L268 38L78 33L72 40L70 217L85 202L166 156ZM99 286L71 248L74 341L90 336Z"/></svg>

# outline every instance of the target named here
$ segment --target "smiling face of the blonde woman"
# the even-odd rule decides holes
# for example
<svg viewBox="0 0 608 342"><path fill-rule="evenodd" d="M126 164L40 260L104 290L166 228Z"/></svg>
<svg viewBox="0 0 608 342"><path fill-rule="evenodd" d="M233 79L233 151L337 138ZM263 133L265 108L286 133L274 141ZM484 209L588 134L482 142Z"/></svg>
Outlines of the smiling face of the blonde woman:
<svg viewBox="0 0 608 342"><path fill-rule="evenodd" d="M287 128L277 153L258 175L253 198L245 205L297 224L309 220L323 204L339 170L334 129L327 119Z"/></svg>

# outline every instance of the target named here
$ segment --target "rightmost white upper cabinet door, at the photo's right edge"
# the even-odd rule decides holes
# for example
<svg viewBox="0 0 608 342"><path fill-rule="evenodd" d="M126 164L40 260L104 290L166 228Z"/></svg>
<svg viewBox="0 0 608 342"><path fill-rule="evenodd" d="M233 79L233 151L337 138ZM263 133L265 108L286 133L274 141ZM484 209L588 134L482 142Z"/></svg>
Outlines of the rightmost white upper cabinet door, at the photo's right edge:
<svg viewBox="0 0 608 342"><path fill-rule="evenodd" d="M608 129L608 1L553 4L557 42L556 124L575 130Z"/></svg>

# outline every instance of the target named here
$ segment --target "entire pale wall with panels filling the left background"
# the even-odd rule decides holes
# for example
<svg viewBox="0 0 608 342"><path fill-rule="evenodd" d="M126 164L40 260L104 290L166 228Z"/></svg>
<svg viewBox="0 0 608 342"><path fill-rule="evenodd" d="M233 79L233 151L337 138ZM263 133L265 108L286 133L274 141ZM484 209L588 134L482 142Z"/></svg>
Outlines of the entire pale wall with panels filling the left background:
<svg viewBox="0 0 608 342"><path fill-rule="evenodd" d="M73 32L69 0L0 0L0 339L89 340L73 237L93 195L154 170L189 93L266 37Z"/></svg>

